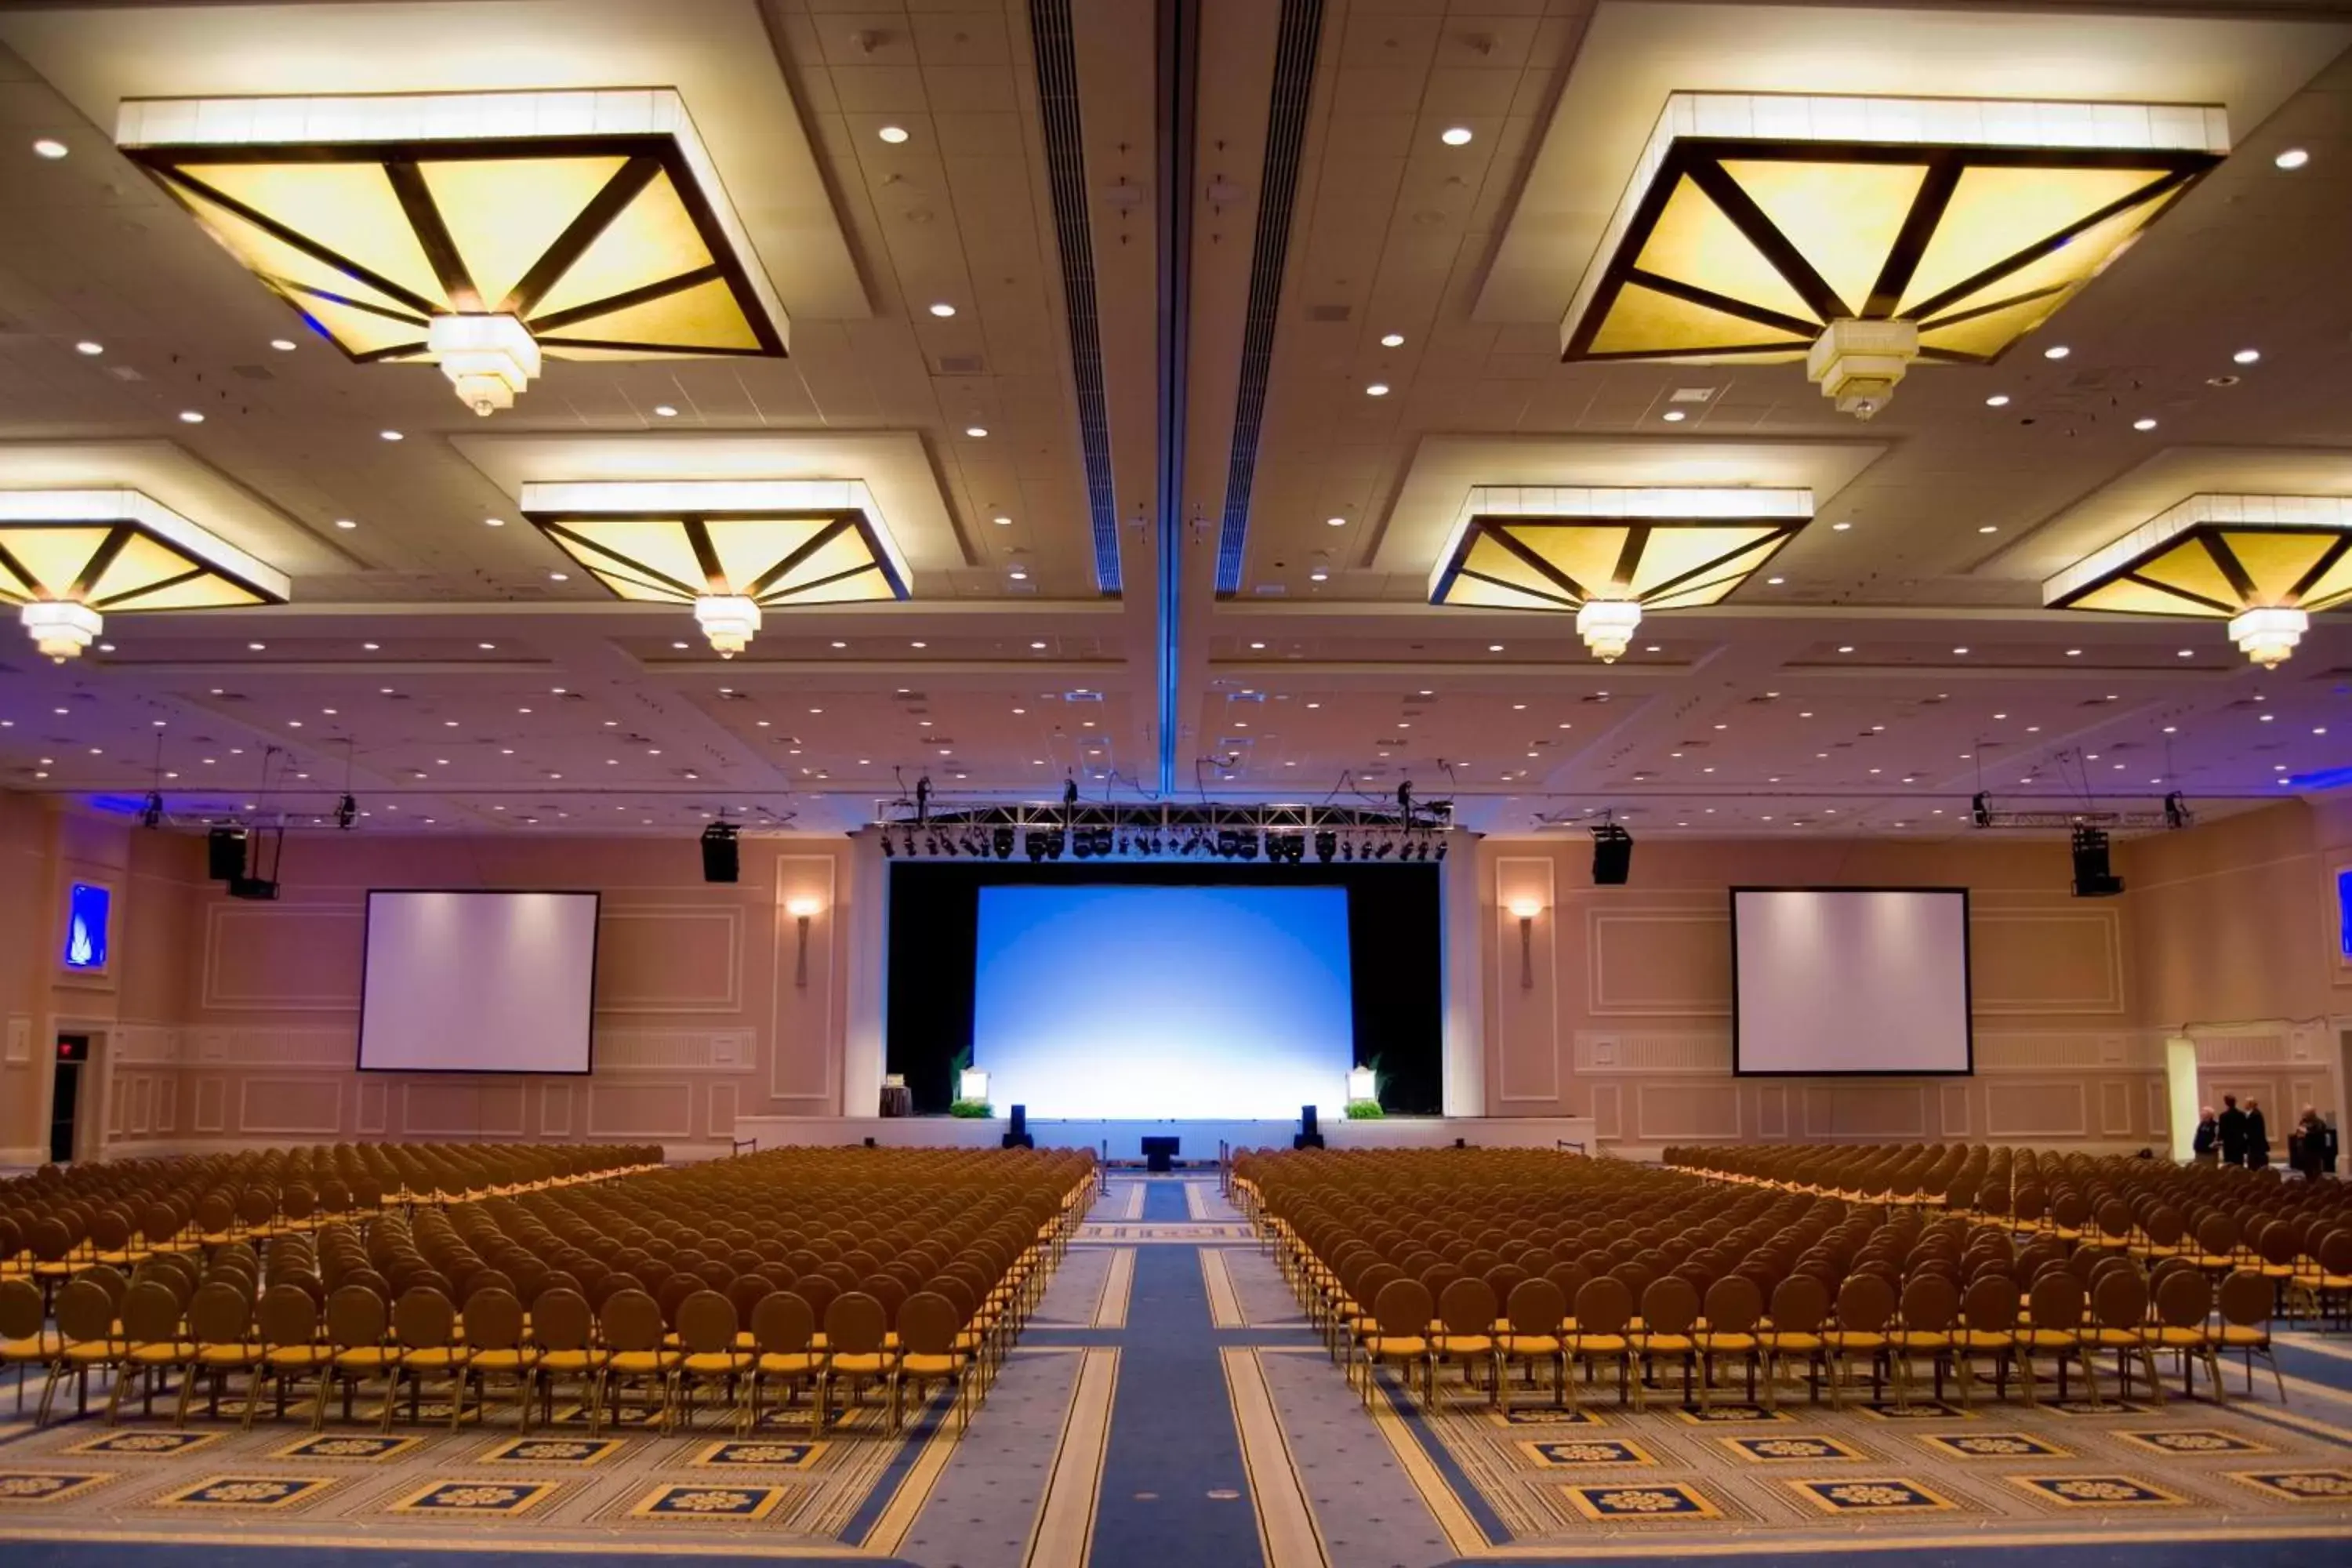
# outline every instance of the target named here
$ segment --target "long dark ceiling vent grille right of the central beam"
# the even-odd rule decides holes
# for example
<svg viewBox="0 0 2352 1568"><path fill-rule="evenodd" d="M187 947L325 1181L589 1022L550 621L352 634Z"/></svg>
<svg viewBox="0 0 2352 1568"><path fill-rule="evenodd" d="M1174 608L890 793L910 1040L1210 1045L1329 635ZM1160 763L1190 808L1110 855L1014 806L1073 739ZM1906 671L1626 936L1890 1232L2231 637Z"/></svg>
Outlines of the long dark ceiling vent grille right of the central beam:
<svg viewBox="0 0 2352 1568"><path fill-rule="evenodd" d="M1298 195L1298 148L1308 136L1319 33L1322 0L1282 0L1275 92L1265 115L1265 176L1258 181L1258 237L1249 256L1242 386L1232 409L1232 456L1225 461L1225 520L1216 534L1221 599L1242 590L1242 557L1249 550L1249 491L1258 475L1258 435L1265 430L1265 381L1275 364L1275 313L1282 308L1282 263L1291 249L1291 202Z"/></svg>

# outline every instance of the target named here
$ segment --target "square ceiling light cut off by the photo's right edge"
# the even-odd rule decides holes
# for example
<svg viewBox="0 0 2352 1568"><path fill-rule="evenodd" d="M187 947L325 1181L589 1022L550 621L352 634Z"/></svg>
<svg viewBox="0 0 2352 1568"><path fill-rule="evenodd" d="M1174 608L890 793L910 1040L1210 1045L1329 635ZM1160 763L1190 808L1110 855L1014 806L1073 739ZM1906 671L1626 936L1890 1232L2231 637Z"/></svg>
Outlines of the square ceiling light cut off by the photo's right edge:
<svg viewBox="0 0 2352 1568"><path fill-rule="evenodd" d="M2277 668L2312 611L2352 602L2352 498L2190 496L2042 585L2056 609L2204 616Z"/></svg>

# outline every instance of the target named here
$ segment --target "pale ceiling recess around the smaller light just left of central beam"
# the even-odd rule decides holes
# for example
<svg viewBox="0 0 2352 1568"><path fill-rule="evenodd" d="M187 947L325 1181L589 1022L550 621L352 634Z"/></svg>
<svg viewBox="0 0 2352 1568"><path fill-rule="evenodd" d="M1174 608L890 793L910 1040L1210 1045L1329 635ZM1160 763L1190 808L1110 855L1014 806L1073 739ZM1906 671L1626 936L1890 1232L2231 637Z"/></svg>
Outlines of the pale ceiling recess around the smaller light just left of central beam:
<svg viewBox="0 0 2352 1568"><path fill-rule="evenodd" d="M863 480L913 574L917 599L934 574L964 564L948 498L908 433L880 435L454 435L449 444L520 505L524 484L590 480Z"/></svg>

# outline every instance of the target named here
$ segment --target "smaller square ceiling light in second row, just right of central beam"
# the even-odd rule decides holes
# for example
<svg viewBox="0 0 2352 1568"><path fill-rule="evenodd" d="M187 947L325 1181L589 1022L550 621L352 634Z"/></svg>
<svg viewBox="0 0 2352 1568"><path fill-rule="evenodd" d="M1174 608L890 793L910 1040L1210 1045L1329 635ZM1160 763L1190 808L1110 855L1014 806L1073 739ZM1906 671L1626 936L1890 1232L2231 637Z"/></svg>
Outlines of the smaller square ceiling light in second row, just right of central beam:
<svg viewBox="0 0 2352 1568"><path fill-rule="evenodd" d="M1430 604L1576 611L1602 663L1644 609L1715 604L1813 517L1809 489L1479 487L1430 574Z"/></svg>

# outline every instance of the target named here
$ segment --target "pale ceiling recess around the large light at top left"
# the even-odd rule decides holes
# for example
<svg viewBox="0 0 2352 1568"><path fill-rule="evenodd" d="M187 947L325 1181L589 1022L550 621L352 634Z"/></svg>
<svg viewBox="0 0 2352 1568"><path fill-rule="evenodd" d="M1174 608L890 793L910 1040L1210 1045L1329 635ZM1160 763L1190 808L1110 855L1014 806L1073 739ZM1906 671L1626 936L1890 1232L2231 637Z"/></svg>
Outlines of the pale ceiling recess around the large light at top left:
<svg viewBox="0 0 2352 1568"><path fill-rule="evenodd" d="M793 317L873 315L755 0L449 0L0 12L113 136L122 99L675 87Z"/></svg>

